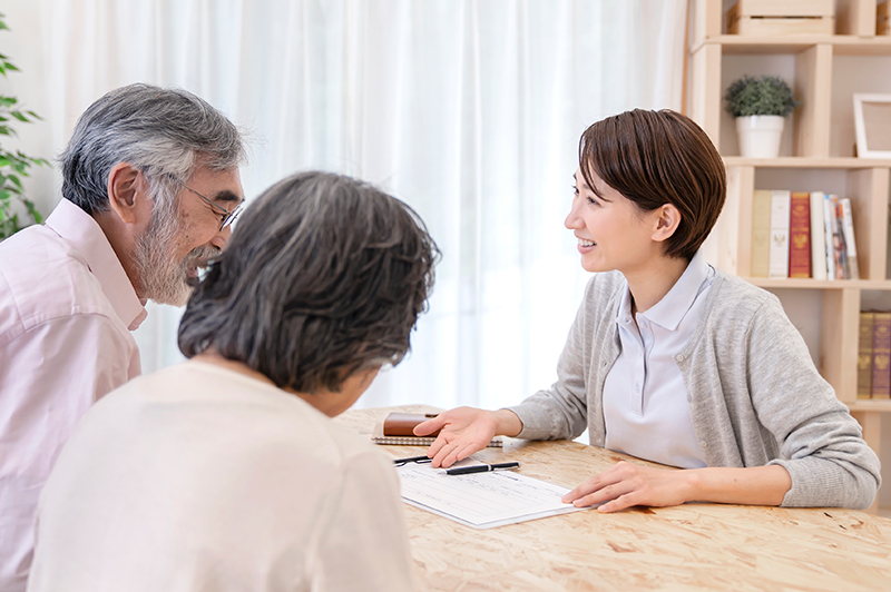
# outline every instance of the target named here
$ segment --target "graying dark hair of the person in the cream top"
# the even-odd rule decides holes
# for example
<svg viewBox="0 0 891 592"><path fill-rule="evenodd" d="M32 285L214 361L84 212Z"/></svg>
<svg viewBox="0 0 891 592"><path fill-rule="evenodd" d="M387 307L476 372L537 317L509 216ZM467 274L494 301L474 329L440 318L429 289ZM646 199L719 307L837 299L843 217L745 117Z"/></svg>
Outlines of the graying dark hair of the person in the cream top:
<svg viewBox="0 0 891 592"><path fill-rule="evenodd" d="M238 219L189 298L179 349L214 348L283 388L337 392L409 351L438 257L394 197L340 175L290 177Z"/></svg>

